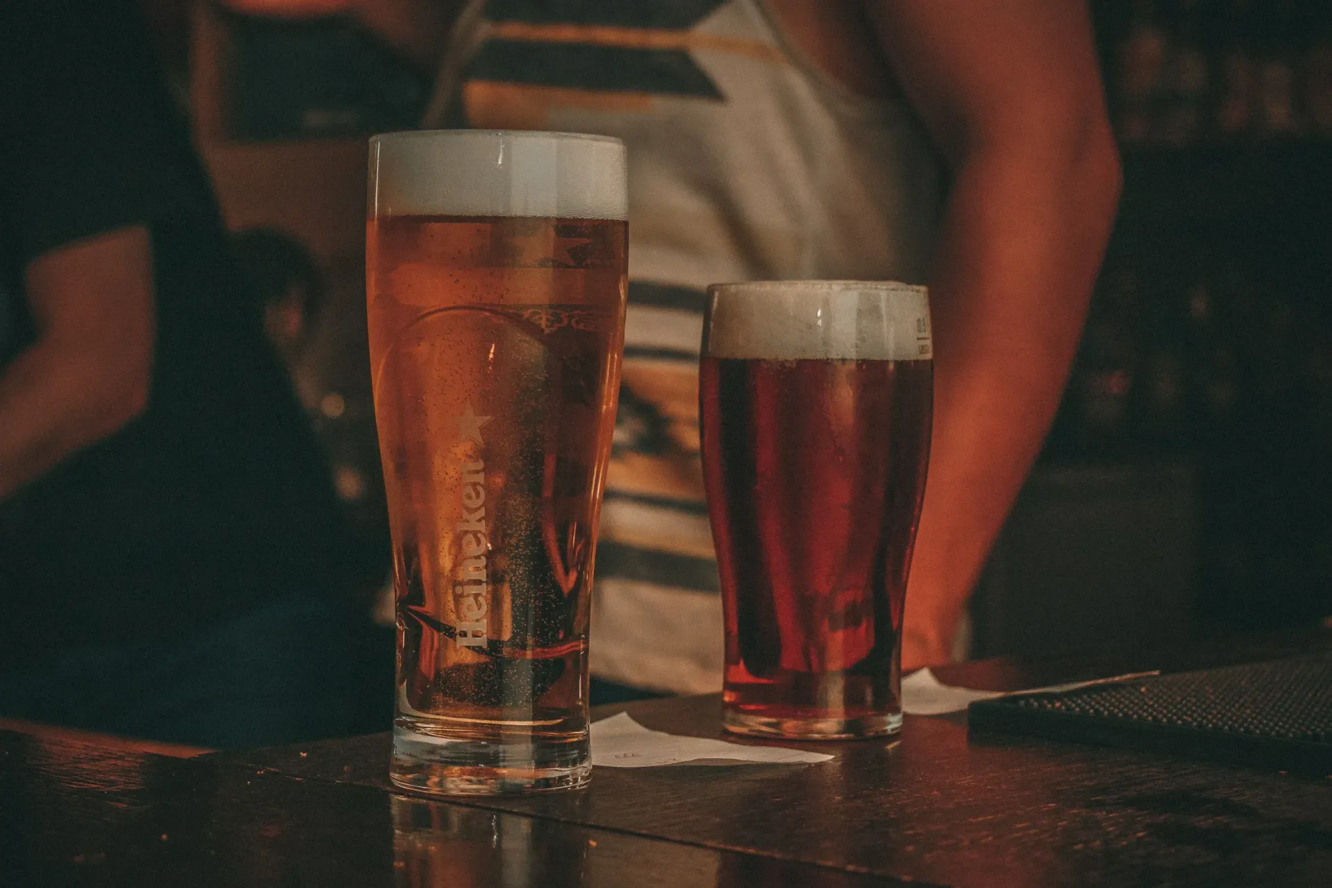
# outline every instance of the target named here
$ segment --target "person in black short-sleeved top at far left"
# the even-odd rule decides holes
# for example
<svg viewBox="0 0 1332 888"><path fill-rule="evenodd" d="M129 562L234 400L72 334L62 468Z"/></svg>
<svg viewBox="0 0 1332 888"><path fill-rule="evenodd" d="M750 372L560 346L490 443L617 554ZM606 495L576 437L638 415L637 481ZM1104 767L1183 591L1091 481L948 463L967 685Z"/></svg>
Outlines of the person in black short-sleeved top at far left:
<svg viewBox="0 0 1332 888"><path fill-rule="evenodd" d="M336 499L137 4L0 4L0 716L341 732Z"/></svg>

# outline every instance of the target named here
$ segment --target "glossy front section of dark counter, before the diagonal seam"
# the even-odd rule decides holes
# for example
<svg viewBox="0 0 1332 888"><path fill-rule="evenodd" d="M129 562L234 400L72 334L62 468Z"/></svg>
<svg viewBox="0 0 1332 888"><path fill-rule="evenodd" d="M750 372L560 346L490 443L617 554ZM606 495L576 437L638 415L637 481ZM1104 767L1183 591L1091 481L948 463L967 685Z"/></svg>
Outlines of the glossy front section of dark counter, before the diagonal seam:
<svg viewBox="0 0 1332 888"><path fill-rule="evenodd" d="M0 731L0 885L742 888L862 873Z"/></svg>

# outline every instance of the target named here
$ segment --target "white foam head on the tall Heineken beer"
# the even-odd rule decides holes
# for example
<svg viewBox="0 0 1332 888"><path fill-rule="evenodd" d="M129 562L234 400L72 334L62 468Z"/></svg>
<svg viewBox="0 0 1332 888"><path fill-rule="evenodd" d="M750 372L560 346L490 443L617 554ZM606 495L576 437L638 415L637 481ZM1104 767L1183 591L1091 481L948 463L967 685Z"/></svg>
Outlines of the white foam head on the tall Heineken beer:
<svg viewBox="0 0 1332 888"><path fill-rule="evenodd" d="M625 144L605 136L422 129L370 137L369 213L629 218Z"/></svg>

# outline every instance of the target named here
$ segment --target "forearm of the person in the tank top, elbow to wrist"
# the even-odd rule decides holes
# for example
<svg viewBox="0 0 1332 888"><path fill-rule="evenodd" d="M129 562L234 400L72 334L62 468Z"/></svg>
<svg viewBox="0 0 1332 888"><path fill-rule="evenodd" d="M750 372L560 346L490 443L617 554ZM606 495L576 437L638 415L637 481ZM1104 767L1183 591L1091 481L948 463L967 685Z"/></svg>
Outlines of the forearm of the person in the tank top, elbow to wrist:
<svg viewBox="0 0 1332 888"><path fill-rule="evenodd" d="M935 421L907 594L907 659L946 659L1050 427L1119 186L1108 138L960 165L931 280Z"/></svg>

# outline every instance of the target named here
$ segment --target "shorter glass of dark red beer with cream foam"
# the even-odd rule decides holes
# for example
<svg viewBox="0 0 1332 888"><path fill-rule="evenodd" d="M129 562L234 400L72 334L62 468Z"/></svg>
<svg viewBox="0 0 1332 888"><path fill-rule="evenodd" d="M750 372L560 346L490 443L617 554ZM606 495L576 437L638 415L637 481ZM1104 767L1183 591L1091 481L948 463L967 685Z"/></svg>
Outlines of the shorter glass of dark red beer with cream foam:
<svg viewBox="0 0 1332 888"><path fill-rule="evenodd" d="M723 724L803 739L895 734L934 403L926 289L713 286L699 386L726 619Z"/></svg>

